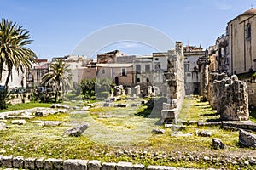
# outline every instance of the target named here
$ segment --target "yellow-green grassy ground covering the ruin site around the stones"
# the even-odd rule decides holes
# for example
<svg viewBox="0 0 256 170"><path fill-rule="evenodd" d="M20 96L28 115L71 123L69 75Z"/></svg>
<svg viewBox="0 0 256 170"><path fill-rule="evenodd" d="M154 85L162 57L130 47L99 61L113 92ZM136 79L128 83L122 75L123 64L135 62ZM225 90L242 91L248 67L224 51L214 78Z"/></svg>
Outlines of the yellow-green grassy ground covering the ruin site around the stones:
<svg viewBox="0 0 256 170"><path fill-rule="evenodd" d="M81 103L81 102L79 102ZM117 102L118 103L118 102ZM122 102L124 103L124 102ZM136 101L125 101L131 105ZM38 106L38 105L37 105ZM139 113L139 114L137 114ZM101 116L110 116L101 118ZM179 119L183 121L204 121L218 119L215 111L199 99L185 99ZM34 120L62 121L58 127L40 127L28 121L26 125L11 125L8 131L0 131L0 155L25 157L76 158L100 161L131 161L144 165L167 165L175 167L226 167L236 169L236 165L220 165L203 161L204 156L256 156L256 150L238 144L238 132L226 131L220 127L197 127L191 125L179 133L194 133L195 130L212 132L211 138L172 137L176 130L165 129L162 135L151 133L159 125L160 106L155 103L153 111L146 105L128 108L104 107L97 103L90 111L69 111L35 118ZM64 131L82 122L90 127L81 137L68 137ZM212 138L222 139L226 150L213 150ZM2 151L1 151L2 150ZM183 158L182 156L185 156ZM198 161L189 161L189 156ZM246 167L251 168L251 167ZM253 167L252 167L253 168Z"/></svg>

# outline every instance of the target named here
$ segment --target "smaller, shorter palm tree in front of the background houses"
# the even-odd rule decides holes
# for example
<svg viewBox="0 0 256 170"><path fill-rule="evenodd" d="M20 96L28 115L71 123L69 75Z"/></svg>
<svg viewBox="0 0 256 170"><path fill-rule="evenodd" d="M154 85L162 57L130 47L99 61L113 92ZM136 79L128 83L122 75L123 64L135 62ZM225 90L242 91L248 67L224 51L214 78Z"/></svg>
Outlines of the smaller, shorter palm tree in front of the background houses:
<svg viewBox="0 0 256 170"><path fill-rule="evenodd" d="M69 65L61 59L49 65L49 72L42 77L42 85L45 87L53 88L55 90L55 102L58 99L59 92L62 94L71 87L69 73Z"/></svg>

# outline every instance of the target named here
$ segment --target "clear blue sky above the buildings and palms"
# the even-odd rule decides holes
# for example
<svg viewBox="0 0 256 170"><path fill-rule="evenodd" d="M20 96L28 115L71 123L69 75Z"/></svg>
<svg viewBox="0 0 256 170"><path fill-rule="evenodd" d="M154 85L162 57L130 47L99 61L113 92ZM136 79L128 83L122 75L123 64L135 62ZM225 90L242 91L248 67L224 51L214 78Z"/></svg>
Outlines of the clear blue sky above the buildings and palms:
<svg viewBox="0 0 256 170"><path fill-rule="evenodd" d="M160 31L173 42L208 48L224 34L227 22L253 5L256 8L256 0L0 0L0 4L1 18L30 31L33 42L29 48L39 59L79 54L74 52L86 37L127 23ZM96 41L100 44L104 38L98 36ZM90 48L93 54L119 49L143 55L155 50L136 41ZM91 55L85 53L79 55Z"/></svg>

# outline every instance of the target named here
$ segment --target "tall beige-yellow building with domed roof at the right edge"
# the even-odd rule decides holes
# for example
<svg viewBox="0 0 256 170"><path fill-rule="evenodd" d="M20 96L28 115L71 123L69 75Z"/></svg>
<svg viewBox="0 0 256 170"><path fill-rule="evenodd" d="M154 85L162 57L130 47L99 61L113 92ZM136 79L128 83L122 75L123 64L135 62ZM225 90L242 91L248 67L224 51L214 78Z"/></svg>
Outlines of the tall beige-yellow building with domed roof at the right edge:
<svg viewBox="0 0 256 170"><path fill-rule="evenodd" d="M228 22L226 58L231 74L256 71L256 8L251 8Z"/></svg>

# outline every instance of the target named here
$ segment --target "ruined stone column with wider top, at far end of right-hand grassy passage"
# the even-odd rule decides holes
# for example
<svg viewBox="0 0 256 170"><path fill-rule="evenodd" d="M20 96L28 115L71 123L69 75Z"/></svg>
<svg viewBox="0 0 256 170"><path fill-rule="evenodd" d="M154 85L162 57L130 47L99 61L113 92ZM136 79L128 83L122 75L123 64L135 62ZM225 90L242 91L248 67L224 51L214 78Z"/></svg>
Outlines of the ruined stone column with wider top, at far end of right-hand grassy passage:
<svg viewBox="0 0 256 170"><path fill-rule="evenodd" d="M208 86L208 67L210 61L206 56L202 56L197 60L197 65L200 71L200 92L203 100L207 100L207 86Z"/></svg>

